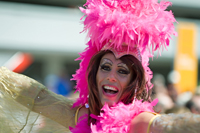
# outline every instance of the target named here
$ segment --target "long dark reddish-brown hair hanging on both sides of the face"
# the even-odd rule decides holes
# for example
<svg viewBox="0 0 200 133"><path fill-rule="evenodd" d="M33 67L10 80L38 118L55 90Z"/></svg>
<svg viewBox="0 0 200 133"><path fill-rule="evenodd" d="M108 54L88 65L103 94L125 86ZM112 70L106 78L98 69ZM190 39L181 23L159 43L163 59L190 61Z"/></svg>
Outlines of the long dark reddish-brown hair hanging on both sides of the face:
<svg viewBox="0 0 200 133"><path fill-rule="evenodd" d="M101 58L107 54L112 53L111 51L100 51L96 55L92 57L90 60L87 73L88 73L88 88L89 88L89 118L88 118L88 124L91 122L94 123L95 119L90 117L90 114L99 115L100 110L102 108L102 104L99 98L99 92L97 88L96 83L96 75L97 71L99 69L99 64L101 61ZM145 89L146 81L145 81L145 72L143 69L143 66L141 62L132 55L124 55L120 58L120 60L125 63L129 69L132 72L132 77L129 85L127 88L124 89L119 101L123 102L124 104L129 104L133 101L135 96L135 89L137 89L136 92L136 98L137 99L143 99L143 101L148 101L150 94L147 92L149 89Z"/></svg>

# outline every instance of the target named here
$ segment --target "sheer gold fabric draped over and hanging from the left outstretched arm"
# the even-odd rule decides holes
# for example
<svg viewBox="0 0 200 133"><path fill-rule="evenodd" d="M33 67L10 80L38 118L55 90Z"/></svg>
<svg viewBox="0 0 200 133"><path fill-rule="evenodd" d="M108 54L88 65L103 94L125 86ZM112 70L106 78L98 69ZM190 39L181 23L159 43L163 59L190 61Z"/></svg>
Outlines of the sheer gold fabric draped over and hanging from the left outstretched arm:
<svg viewBox="0 0 200 133"><path fill-rule="evenodd" d="M39 82L0 68L0 133L68 133L73 101Z"/></svg>

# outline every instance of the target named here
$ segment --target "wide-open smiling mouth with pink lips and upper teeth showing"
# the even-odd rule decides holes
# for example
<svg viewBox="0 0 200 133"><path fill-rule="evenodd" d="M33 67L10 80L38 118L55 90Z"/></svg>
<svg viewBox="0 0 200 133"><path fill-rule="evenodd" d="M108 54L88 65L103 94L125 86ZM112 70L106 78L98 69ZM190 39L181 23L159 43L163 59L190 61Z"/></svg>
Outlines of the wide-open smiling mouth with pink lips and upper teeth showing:
<svg viewBox="0 0 200 133"><path fill-rule="evenodd" d="M103 94L106 96L115 96L119 92L115 87L112 86L104 85L102 86L102 88L103 88Z"/></svg>

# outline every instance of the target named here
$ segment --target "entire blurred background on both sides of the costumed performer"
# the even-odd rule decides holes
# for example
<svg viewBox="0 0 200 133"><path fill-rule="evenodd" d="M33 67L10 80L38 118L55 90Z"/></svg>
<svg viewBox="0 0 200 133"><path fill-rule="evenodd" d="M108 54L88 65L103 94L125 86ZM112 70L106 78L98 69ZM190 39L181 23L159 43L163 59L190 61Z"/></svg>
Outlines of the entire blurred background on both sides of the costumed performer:
<svg viewBox="0 0 200 133"><path fill-rule="evenodd" d="M178 23L162 56L150 59L158 112L200 112L200 2L170 0ZM30 76L50 90L74 97L86 34L78 7L85 0L0 0L0 66ZM76 96L75 96L76 97ZM181 107L181 109L179 108ZM182 107L184 109L182 110Z"/></svg>

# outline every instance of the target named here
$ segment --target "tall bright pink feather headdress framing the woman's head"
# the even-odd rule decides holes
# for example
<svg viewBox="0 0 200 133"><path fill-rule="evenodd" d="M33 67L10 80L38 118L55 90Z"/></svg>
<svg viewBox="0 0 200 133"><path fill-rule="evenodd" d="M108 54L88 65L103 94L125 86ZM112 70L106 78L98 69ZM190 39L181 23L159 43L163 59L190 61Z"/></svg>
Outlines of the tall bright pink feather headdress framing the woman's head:
<svg viewBox="0 0 200 133"><path fill-rule="evenodd" d="M153 75L148 67L149 58L154 51L161 52L169 46L171 35L177 34L172 11L165 11L169 5L171 2L158 3L157 0L87 0L85 8L80 7L86 16L84 31L88 32L90 40L77 59L81 60L80 68L73 75L73 80L77 81L76 89L80 92L74 106L88 102L86 70L89 61L108 44L116 50L122 44L126 44L127 50L137 47L146 81L151 86Z"/></svg>

